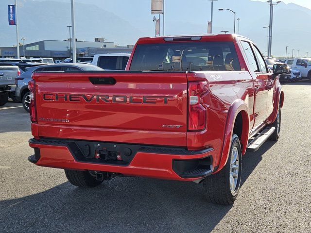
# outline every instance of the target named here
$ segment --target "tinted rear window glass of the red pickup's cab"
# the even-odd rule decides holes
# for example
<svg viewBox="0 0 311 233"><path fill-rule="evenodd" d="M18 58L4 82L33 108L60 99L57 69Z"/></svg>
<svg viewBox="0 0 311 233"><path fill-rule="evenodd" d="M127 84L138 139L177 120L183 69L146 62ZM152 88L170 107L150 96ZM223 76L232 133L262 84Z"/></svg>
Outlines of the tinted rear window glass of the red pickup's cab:
<svg viewBox="0 0 311 233"><path fill-rule="evenodd" d="M133 71L241 70L233 42L178 42L136 47Z"/></svg>

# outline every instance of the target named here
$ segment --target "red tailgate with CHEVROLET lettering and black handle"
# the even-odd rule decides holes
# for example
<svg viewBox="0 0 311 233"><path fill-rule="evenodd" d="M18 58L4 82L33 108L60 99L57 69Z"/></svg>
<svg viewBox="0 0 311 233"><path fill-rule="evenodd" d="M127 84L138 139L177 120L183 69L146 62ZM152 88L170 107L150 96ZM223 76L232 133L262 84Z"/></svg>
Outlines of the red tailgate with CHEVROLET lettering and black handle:
<svg viewBox="0 0 311 233"><path fill-rule="evenodd" d="M186 147L186 72L41 72L34 79L41 137Z"/></svg>

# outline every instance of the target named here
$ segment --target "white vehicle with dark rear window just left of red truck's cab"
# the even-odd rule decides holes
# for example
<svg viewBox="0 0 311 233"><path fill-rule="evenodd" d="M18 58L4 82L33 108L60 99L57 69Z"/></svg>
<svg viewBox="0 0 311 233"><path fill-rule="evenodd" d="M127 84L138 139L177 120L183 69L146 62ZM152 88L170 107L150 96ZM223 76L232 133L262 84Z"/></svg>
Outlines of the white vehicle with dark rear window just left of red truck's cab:
<svg viewBox="0 0 311 233"><path fill-rule="evenodd" d="M104 70L125 70L130 53L95 54L92 64Z"/></svg>

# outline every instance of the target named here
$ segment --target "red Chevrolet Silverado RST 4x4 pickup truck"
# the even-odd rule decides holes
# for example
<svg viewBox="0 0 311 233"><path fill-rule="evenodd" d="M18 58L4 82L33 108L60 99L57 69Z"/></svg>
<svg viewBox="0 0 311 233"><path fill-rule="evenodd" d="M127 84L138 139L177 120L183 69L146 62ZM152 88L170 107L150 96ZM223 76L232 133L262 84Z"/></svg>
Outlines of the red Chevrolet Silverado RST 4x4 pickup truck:
<svg viewBox="0 0 311 233"><path fill-rule="evenodd" d="M279 137L287 72L231 34L140 38L125 71L35 72L28 160L80 187L194 181L208 201L231 204L242 155Z"/></svg>

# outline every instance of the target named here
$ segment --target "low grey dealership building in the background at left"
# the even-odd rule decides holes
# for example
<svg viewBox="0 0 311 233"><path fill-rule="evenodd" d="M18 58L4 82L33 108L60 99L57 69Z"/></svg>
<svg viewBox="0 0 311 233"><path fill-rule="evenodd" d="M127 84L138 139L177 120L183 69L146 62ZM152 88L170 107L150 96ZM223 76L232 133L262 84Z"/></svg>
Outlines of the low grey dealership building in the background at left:
<svg viewBox="0 0 311 233"><path fill-rule="evenodd" d="M67 40L42 40L24 46L19 46L21 57L51 57L54 60L64 60L70 57L70 45ZM77 57L92 57L102 53L131 53L132 45L115 46L113 42L107 42L104 38L95 38L94 41L76 40ZM0 47L0 58L17 58L17 47Z"/></svg>

